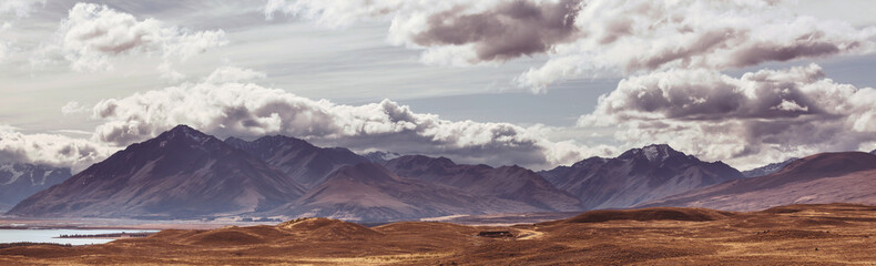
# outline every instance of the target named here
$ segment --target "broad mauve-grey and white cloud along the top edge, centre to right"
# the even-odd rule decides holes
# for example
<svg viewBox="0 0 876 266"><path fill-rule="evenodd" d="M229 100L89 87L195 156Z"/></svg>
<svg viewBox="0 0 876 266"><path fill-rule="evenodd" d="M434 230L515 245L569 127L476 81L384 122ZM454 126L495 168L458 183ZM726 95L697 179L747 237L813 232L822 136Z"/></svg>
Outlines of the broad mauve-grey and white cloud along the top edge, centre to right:
<svg viewBox="0 0 876 266"><path fill-rule="evenodd" d="M389 41L439 64L547 54L517 81L542 91L594 73L729 69L870 52L876 28L797 16L780 0L271 0L328 27L388 20Z"/></svg>

